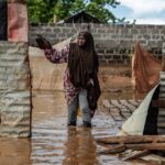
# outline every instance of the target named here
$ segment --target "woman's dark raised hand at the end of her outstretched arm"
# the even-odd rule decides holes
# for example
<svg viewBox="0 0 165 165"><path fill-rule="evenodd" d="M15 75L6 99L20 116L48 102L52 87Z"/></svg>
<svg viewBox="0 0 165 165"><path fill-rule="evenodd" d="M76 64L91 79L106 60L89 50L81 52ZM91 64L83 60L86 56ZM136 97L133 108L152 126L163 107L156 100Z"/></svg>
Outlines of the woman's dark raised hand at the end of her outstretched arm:
<svg viewBox="0 0 165 165"><path fill-rule="evenodd" d="M41 34L37 34L35 41L41 50L52 50L51 43Z"/></svg>

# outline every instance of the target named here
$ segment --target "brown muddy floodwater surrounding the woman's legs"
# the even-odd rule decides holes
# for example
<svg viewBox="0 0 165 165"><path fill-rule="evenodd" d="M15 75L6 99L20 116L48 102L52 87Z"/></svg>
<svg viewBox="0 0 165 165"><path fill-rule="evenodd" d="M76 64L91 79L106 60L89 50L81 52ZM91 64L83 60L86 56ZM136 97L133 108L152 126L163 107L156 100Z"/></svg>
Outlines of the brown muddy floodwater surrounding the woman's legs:
<svg viewBox="0 0 165 165"><path fill-rule="evenodd" d="M116 95L117 98L125 98L122 96L124 92L105 92L101 99ZM92 129L84 129L80 117L78 125L68 129L66 114L66 102L62 91L34 91L32 136L31 139L1 138L0 165L152 164L144 161L122 162L118 155L98 154L106 147L98 145L95 139L114 135L118 132L116 123L101 109L92 119Z"/></svg>

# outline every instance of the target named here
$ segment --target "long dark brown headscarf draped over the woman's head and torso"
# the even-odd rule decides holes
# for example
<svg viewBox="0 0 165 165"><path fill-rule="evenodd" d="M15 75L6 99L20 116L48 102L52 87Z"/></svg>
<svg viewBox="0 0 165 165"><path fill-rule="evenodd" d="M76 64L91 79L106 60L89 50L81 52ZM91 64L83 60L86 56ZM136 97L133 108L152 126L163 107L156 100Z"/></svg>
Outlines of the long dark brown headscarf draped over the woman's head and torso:
<svg viewBox="0 0 165 165"><path fill-rule="evenodd" d="M70 44L68 68L73 85L86 88L89 78L97 74L99 64L91 33L80 32L78 36L80 35L86 38L86 43L84 46Z"/></svg>

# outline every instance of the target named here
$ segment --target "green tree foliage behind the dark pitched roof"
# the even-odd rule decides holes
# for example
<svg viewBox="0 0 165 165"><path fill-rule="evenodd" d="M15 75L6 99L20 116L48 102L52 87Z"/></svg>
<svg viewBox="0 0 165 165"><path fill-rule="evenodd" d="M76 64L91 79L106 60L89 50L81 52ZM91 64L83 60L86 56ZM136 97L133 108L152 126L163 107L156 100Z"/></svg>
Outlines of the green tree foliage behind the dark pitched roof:
<svg viewBox="0 0 165 165"><path fill-rule="evenodd" d="M53 22L66 19L80 11L98 18L102 22L114 22L117 18L110 11L119 2L117 0L26 0L30 22Z"/></svg>

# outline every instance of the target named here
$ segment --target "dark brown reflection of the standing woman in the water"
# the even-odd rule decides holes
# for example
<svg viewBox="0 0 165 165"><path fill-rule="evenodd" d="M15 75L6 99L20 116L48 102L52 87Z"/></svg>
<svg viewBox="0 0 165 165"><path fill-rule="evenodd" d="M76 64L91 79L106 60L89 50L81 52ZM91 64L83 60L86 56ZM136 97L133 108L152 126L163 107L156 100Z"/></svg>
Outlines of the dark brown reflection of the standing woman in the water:
<svg viewBox="0 0 165 165"><path fill-rule="evenodd" d="M96 144L90 129L68 128L63 165L96 165Z"/></svg>

